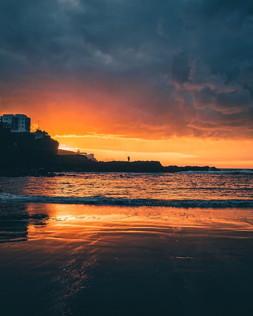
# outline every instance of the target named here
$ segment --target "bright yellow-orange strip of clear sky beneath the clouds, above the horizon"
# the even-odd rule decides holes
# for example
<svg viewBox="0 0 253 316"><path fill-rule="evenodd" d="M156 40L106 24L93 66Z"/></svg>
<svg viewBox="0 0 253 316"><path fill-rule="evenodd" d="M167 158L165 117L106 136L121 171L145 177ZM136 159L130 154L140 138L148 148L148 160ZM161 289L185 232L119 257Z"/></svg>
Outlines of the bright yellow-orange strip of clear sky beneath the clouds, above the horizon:
<svg viewBox="0 0 253 316"><path fill-rule="evenodd" d="M98 161L160 161L163 166L253 169L253 142L172 138L145 140L113 135L56 135L59 148L94 153ZM243 149L241 149L243 148Z"/></svg>

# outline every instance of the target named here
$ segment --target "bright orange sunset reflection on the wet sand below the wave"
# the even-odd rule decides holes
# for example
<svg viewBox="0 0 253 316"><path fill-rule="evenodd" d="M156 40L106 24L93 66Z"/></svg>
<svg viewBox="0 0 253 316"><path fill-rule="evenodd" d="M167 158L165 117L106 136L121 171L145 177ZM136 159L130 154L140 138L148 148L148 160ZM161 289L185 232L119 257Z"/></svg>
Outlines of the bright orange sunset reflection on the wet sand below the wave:
<svg viewBox="0 0 253 316"><path fill-rule="evenodd" d="M30 215L43 212L44 225L28 228L29 238L86 239L90 234L158 233L178 230L250 231L249 209L95 206L80 204L27 204ZM106 238L106 237L105 237ZM92 238L93 239L93 238Z"/></svg>

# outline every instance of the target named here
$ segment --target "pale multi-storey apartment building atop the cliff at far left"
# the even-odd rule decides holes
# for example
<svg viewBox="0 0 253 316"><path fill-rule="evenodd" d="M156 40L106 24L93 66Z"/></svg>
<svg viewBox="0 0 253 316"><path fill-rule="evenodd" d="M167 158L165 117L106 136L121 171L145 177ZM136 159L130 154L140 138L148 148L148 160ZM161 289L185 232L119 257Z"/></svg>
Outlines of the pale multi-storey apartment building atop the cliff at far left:
<svg viewBox="0 0 253 316"><path fill-rule="evenodd" d="M4 114L0 122L11 125L11 132L30 132L31 119L24 114Z"/></svg>

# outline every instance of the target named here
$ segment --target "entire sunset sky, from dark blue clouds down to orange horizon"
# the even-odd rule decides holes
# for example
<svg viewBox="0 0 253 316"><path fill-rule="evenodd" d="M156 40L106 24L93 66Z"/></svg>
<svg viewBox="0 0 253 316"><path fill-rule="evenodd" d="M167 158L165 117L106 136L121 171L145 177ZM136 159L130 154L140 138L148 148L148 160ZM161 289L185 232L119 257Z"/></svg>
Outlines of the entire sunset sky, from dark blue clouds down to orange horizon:
<svg viewBox="0 0 253 316"><path fill-rule="evenodd" d="M1 0L0 115L98 161L253 168L251 0Z"/></svg>

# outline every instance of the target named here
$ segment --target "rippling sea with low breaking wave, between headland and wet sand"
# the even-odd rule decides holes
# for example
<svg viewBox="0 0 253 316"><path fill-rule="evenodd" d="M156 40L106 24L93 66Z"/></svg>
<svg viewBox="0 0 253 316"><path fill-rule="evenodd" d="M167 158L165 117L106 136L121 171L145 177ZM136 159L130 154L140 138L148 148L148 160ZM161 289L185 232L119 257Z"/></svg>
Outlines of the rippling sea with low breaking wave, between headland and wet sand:
<svg viewBox="0 0 253 316"><path fill-rule="evenodd" d="M253 171L66 173L2 178L0 200L150 206L253 206Z"/></svg>

